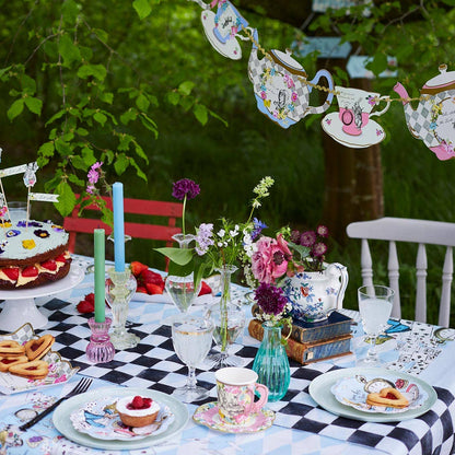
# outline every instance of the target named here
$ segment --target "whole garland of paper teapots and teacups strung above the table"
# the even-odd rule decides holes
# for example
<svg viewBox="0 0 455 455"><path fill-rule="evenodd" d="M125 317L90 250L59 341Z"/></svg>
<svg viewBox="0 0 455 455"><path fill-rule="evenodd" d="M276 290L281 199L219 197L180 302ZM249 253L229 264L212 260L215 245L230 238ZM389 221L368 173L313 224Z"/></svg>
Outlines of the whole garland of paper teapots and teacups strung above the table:
<svg viewBox="0 0 455 455"><path fill-rule="evenodd" d="M325 69L308 80L290 50L266 50L260 45L257 30L248 26L229 0L213 0L211 3L188 1L202 8L201 22L206 36L222 56L240 60L242 48L237 38L252 42L248 78L253 83L257 108L280 127L289 128L307 115L325 113L335 96L339 110L324 116L320 121L324 131L346 147L362 149L380 143L386 136L372 117L385 114L390 103L400 102L412 137L422 140L439 160L455 158L455 71L447 71L445 65L440 66L440 74L423 85L418 97L410 97L399 82L394 88L398 97L335 85L331 74ZM217 12L212 11L215 8ZM258 52L264 58L259 58ZM326 84L320 83L323 79ZM313 89L327 94L319 106L310 104ZM410 103L413 101L419 102L417 108Z"/></svg>

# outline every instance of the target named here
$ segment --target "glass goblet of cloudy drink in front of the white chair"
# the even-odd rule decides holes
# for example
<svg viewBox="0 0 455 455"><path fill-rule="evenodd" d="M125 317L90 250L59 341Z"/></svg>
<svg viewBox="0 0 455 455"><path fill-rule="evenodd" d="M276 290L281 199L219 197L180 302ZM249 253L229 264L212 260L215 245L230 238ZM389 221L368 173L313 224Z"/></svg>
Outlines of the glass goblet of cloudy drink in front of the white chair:
<svg viewBox="0 0 455 455"><path fill-rule="evenodd" d="M361 359L358 365L378 366L381 361L376 352L376 339L387 324L394 305L395 291L386 285L362 285L358 290L359 311L362 318L370 348L366 358Z"/></svg>

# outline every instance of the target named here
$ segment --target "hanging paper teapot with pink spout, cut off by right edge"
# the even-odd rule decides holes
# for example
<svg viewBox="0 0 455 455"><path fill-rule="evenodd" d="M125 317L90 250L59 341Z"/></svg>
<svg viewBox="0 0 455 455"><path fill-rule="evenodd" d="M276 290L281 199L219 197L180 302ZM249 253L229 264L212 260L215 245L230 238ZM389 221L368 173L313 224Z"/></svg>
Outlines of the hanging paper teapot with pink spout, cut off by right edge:
<svg viewBox="0 0 455 455"><path fill-rule="evenodd" d="M407 101L406 89L398 82L394 91L404 98L406 122L410 133L421 139L442 160L455 158L455 71L439 67L440 74L430 79L420 90L421 100L415 109Z"/></svg>

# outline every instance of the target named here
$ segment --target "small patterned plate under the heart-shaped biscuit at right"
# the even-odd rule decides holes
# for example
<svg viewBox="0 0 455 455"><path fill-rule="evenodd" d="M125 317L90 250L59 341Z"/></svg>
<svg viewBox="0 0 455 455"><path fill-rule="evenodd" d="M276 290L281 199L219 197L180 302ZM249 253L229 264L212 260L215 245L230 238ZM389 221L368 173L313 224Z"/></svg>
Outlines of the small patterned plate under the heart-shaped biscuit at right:
<svg viewBox="0 0 455 455"><path fill-rule="evenodd" d="M380 393L385 387L393 387L399 390L407 398L409 405L405 408L395 408L366 404L366 396L370 393ZM343 377L334 384L330 390L339 402L363 412L406 412L410 409L420 408L428 399L428 394L422 387L400 377L399 373L389 373L386 377L373 377L362 374Z"/></svg>

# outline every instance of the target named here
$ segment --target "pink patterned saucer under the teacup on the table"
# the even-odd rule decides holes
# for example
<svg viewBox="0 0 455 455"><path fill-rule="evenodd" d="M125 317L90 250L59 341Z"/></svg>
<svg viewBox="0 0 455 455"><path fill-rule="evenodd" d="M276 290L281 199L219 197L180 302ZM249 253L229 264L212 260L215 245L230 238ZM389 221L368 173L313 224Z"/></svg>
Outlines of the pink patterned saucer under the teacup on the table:
<svg viewBox="0 0 455 455"><path fill-rule="evenodd" d="M275 420L275 412L269 409L261 409L260 412L252 415L245 423L233 425L220 418L218 402L212 401L199 406L192 416L192 420L196 423L224 433L254 433L270 428Z"/></svg>

